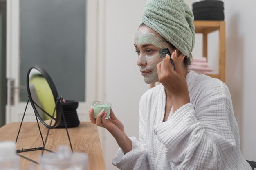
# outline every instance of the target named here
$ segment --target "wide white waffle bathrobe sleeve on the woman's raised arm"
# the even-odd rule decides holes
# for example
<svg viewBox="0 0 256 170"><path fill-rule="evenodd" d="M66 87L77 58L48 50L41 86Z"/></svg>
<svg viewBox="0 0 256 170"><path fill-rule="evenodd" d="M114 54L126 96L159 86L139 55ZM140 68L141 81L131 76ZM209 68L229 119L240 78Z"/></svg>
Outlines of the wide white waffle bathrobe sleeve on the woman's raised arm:
<svg viewBox="0 0 256 170"><path fill-rule="evenodd" d="M224 170L236 146L229 119L233 114L229 91L219 83L202 89L196 102L155 125L154 133L165 145L174 170Z"/></svg>

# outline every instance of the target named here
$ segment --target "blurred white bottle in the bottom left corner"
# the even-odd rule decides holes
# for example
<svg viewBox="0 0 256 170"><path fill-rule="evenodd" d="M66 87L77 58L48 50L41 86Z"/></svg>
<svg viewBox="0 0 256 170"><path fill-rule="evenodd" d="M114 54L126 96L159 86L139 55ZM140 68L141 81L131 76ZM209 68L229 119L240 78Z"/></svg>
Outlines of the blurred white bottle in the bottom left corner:
<svg viewBox="0 0 256 170"><path fill-rule="evenodd" d="M19 170L19 158L13 141L0 142L0 170Z"/></svg>

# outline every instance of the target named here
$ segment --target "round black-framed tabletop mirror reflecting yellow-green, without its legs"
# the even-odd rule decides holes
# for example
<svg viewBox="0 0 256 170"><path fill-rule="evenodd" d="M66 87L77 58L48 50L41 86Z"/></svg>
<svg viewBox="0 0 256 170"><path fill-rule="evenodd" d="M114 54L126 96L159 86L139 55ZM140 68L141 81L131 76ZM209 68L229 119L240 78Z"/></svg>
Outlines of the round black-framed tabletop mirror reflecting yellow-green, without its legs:
<svg viewBox="0 0 256 170"><path fill-rule="evenodd" d="M40 66L29 68L27 91L38 119L48 128L58 126L61 121L61 104L56 107L58 93L52 78Z"/></svg>

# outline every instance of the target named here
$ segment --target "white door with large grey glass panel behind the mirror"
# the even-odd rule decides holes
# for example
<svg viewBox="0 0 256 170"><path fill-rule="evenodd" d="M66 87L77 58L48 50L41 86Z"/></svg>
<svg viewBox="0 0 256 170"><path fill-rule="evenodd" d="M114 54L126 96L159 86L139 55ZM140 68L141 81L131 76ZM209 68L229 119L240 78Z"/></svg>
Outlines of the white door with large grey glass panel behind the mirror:
<svg viewBox="0 0 256 170"><path fill-rule="evenodd" d="M7 1L6 123L20 122L28 95L27 70L40 65L59 96L79 101L80 121L97 99L97 1ZM29 103L25 121L36 121Z"/></svg>

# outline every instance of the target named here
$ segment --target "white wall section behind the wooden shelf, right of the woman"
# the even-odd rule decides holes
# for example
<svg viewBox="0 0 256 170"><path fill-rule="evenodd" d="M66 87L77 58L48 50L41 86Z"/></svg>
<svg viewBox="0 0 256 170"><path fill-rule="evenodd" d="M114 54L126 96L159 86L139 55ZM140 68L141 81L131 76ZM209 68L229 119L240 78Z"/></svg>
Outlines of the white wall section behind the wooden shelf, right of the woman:
<svg viewBox="0 0 256 170"><path fill-rule="evenodd" d="M185 0L192 7L193 0ZM256 161L256 1L223 0L226 21L226 84L233 101L245 159ZM194 56L201 56L202 37L196 35ZM208 37L212 68L218 69L218 32Z"/></svg>

